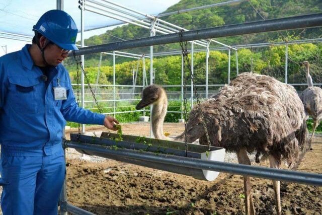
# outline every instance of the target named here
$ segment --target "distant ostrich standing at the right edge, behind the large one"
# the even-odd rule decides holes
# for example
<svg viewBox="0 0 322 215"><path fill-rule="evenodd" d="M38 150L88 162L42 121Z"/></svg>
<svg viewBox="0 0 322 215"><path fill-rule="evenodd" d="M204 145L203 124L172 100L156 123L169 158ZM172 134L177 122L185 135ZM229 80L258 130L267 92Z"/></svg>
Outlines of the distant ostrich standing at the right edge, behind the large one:
<svg viewBox="0 0 322 215"><path fill-rule="evenodd" d="M301 100L307 117L310 115L313 118L313 130L308 147L308 149L310 149L315 129L322 118L322 89L319 87L313 87L309 62L304 61L303 64L306 67L306 80L308 87L302 92Z"/></svg>

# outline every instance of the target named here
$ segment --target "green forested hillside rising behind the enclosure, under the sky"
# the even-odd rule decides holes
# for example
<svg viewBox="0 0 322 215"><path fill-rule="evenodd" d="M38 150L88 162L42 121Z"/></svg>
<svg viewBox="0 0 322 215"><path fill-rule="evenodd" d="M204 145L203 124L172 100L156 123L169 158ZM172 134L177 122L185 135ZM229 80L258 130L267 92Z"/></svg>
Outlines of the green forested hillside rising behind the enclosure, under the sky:
<svg viewBox="0 0 322 215"><path fill-rule="evenodd" d="M210 5L222 0L182 0L168 8L164 13L178 11L182 9L195 8L199 6ZM157 5L155 5L157 7ZM321 13L321 0L250 0L235 5L213 7L203 10L192 11L163 17L162 19L170 23L179 25L189 30L201 29L236 23L258 21L263 19L274 19L280 17L296 16L303 14ZM266 42L276 39L291 38L317 38L322 34L321 28L312 28L284 33L263 33L256 35L235 36L229 38L217 38L216 40L229 45L249 44L257 42ZM121 39L135 39L148 37L149 30L134 25L124 25L105 34L93 36L85 40L85 45L92 46L120 41ZM168 47L168 48L167 48ZM172 48L178 49L178 44L167 44L165 46L155 46L154 52L171 51ZM147 47L127 50L132 53L148 53ZM99 55L93 54L86 56L87 65L97 65ZM106 59L108 57L106 56ZM66 61L66 65L71 64L71 59ZM125 59L123 59L125 60ZM130 60L130 59L128 59ZM120 60L122 61L122 60ZM119 62L120 62L119 61ZM104 61L104 65L110 65L111 60Z"/></svg>

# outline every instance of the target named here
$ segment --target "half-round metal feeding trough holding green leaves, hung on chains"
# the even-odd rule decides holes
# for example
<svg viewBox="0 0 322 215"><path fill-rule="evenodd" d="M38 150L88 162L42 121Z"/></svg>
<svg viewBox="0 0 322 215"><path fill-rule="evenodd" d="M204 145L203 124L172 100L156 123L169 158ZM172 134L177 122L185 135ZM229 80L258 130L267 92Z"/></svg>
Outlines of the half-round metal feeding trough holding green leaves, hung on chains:
<svg viewBox="0 0 322 215"><path fill-rule="evenodd" d="M94 134L93 135L97 135ZM87 155L95 155L103 158L108 158L116 161L121 161L125 163L136 164L140 166L145 166L153 169L164 170L173 173L179 173L183 175L192 176L196 179L212 181L216 179L219 172L200 170L195 168L180 167L177 165L162 164L159 162L147 162L140 159L128 158L126 156L120 156L114 154L104 153L105 149L112 149L116 151L124 152L136 152L141 154L148 154L153 156L159 155L171 155L178 157L188 157L201 159L206 161L223 161L225 156L225 149L218 147L211 147L210 150L208 146L188 144L188 151L186 155L185 143L170 140L161 140L148 138L143 136L133 136L133 135L122 135L122 138L118 134L102 132L100 137L89 136L82 134L70 134L70 139L73 142L78 142L78 144L86 144L99 146L100 150L96 151L94 149L75 149L79 153ZM122 140L120 140L122 139ZM68 140L67 140L68 141ZM103 149L102 149L103 147ZM125 154L126 155L126 154Z"/></svg>

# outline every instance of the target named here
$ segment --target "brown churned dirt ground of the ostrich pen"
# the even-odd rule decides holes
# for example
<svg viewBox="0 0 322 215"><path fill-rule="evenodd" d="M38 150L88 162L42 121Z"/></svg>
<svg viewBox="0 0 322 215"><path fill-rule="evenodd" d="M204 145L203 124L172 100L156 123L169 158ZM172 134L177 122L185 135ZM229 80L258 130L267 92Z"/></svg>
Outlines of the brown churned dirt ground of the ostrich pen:
<svg viewBox="0 0 322 215"><path fill-rule="evenodd" d="M164 125L171 135L183 129L179 123ZM122 130L148 136L149 124L123 124ZM321 174L322 137L314 139L312 148L298 170ZM245 213L242 176L220 173L216 180L206 182L112 160L89 162L68 153L66 157L68 202L96 214ZM272 182L251 180L256 212L275 214ZM281 182L282 214L322 214L321 196L322 187Z"/></svg>

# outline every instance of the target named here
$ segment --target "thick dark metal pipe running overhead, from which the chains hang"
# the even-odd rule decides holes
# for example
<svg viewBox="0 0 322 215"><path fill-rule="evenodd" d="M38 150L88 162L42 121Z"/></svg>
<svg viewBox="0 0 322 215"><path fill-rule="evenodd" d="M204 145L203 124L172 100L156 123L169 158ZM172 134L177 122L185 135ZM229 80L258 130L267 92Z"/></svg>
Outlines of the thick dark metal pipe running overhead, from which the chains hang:
<svg viewBox="0 0 322 215"><path fill-rule="evenodd" d="M77 51L72 51L71 53L69 53L69 56L72 56L73 54L93 54L112 50L176 43L180 42L181 39L182 41L193 41L208 38L228 37L235 35L255 34L299 28L311 28L318 26L322 26L322 13L187 31L182 33L182 37L180 37L178 33L174 33L96 45L81 48Z"/></svg>

